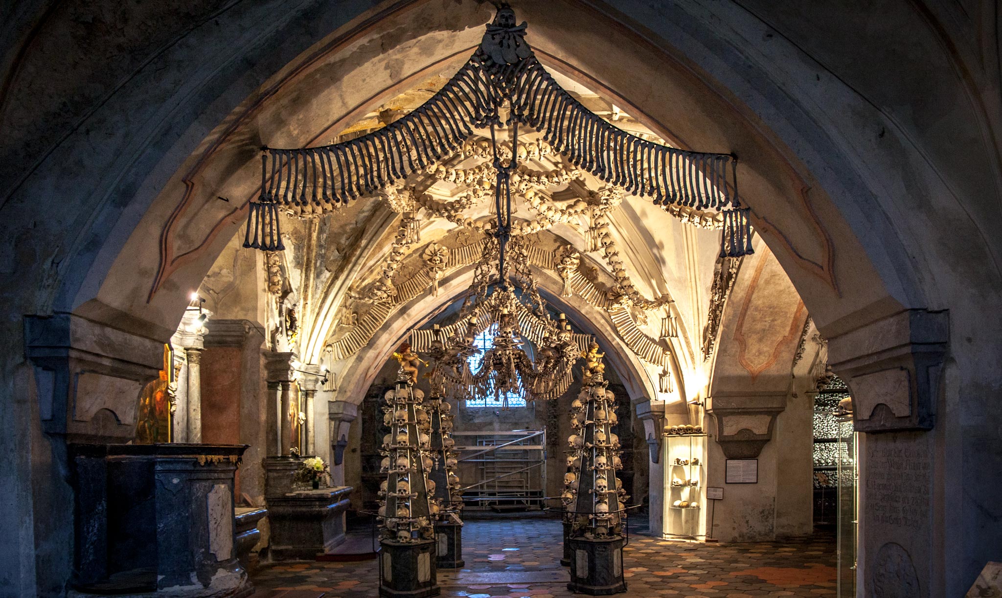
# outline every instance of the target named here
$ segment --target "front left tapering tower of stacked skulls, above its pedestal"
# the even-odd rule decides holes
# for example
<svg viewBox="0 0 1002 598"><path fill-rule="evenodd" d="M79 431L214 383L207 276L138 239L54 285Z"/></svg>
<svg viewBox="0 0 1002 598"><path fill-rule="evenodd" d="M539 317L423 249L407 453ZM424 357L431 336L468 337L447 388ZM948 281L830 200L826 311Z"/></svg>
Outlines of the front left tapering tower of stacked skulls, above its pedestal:
<svg viewBox="0 0 1002 598"><path fill-rule="evenodd" d="M427 477L432 465L431 436L418 429L419 419L428 419L420 405L423 398L424 393L403 380L385 396L384 421L391 430L383 438L381 468L387 474L379 509L385 540L415 542L435 537Z"/></svg>

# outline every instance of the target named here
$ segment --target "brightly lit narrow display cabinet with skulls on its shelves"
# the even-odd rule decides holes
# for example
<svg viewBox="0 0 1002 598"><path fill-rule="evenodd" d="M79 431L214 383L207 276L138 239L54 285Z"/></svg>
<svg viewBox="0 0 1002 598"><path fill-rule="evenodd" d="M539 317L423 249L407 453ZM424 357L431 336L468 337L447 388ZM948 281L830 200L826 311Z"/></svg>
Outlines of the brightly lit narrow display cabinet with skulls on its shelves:
<svg viewBox="0 0 1002 598"><path fill-rule="evenodd" d="M706 535L705 434L665 434L663 536L702 540Z"/></svg>

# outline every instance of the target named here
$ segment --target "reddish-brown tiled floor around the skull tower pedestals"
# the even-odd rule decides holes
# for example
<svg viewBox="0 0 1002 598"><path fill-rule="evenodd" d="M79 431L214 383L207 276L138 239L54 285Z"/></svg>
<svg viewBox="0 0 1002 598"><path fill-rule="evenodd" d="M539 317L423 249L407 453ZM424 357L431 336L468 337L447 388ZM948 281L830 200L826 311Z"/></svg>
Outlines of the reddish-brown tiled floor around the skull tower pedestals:
<svg viewBox="0 0 1002 598"><path fill-rule="evenodd" d="M469 521L463 545L466 567L439 571L442 596L572 595L566 587L567 569L560 566L563 549L557 520ZM323 592L324 598L374 597L379 586L376 563L266 566L253 575L253 581L259 590L312 590L315 596ZM620 596L835 596L835 542L827 535L722 545L633 535L624 549L623 565L628 589ZM268 594L272 592L259 593Z"/></svg>

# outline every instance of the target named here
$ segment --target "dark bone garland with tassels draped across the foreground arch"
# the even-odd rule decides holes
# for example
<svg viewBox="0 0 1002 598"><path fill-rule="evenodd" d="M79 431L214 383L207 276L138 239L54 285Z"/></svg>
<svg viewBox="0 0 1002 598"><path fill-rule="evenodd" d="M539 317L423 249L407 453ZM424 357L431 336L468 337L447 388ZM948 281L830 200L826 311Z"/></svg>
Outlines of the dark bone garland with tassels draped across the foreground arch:
<svg viewBox="0 0 1002 598"><path fill-rule="evenodd" d="M279 211L326 213L351 199L426 170L458 150L475 128L528 126L576 167L627 192L650 197L672 214L679 208L723 212L720 254L752 253L747 208L737 194L736 158L688 151L629 134L585 108L543 68L525 41L526 24L498 9L480 47L435 95L384 128L321 147L276 149L262 155L261 194L252 201L244 247L284 247ZM502 159L493 142L499 214L510 204L518 164ZM504 252L506 230L497 234Z"/></svg>

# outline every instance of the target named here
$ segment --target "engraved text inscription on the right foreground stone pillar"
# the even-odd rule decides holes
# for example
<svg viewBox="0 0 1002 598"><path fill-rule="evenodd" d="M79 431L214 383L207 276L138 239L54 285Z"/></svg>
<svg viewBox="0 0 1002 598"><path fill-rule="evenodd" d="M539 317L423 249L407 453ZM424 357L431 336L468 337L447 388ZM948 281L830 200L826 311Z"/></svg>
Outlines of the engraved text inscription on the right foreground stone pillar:
<svg viewBox="0 0 1002 598"><path fill-rule="evenodd" d="M929 513L929 457L922 445L868 443L867 523L921 530Z"/></svg>

